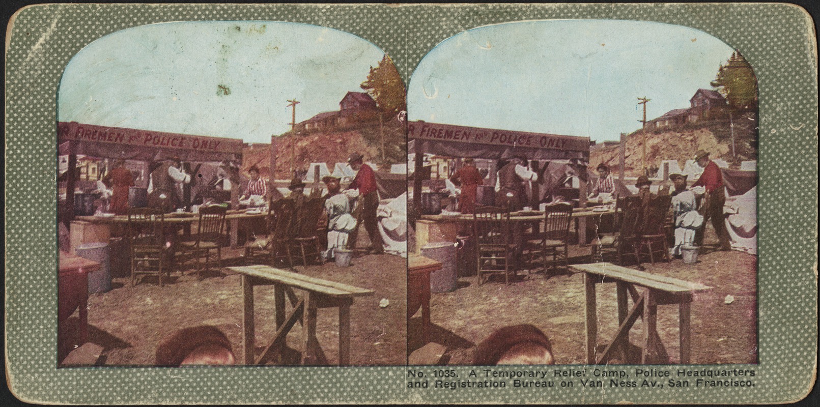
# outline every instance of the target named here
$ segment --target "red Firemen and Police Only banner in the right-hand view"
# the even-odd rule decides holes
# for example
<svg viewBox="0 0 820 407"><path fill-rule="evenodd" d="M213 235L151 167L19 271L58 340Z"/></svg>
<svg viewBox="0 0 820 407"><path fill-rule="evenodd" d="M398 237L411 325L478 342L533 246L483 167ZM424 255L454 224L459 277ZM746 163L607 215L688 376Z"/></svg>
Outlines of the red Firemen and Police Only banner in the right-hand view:
<svg viewBox="0 0 820 407"><path fill-rule="evenodd" d="M423 121L408 123L408 138L446 142L493 144L503 147L530 147L549 150L590 151L590 138L558 134L482 129Z"/></svg>

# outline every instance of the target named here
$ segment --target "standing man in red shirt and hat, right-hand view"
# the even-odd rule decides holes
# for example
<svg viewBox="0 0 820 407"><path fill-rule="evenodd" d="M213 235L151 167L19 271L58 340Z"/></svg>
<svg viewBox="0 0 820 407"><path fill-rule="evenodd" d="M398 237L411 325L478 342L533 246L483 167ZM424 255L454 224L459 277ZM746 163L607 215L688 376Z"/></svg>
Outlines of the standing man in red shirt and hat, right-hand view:
<svg viewBox="0 0 820 407"><path fill-rule="evenodd" d="M704 187L706 189L700 204L700 214L704 216L704 227L695 233L695 244L698 246L703 245L706 222L711 218L712 226L715 228L717 239L720 242L720 250L731 250L729 233L726 230L726 219L723 216L723 204L726 203L726 194L723 192L723 176L720 167L714 161L709 160L709 153L703 150L699 150L695 154L695 161L704 169L704 173L700 174L700 178L692 184L692 187Z"/></svg>

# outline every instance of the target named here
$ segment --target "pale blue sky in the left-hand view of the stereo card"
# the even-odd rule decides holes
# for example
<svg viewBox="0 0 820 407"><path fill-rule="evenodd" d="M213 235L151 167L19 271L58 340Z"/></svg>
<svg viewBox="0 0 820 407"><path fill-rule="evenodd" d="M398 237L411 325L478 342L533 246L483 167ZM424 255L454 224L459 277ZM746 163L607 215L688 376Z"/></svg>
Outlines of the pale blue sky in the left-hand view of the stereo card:
<svg viewBox="0 0 820 407"><path fill-rule="evenodd" d="M245 142L339 110L384 55L353 34L270 21L144 25L90 43L60 83L57 118ZM218 93L219 86L230 94Z"/></svg>

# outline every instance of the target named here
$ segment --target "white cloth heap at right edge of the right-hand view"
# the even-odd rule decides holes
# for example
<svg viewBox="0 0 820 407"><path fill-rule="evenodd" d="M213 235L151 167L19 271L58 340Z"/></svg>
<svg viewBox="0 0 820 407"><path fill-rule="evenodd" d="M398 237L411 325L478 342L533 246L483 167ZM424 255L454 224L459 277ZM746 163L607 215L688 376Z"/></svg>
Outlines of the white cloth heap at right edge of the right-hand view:
<svg viewBox="0 0 820 407"><path fill-rule="evenodd" d="M752 255L758 254L757 193L754 187L743 195L727 197L723 205L731 248Z"/></svg>

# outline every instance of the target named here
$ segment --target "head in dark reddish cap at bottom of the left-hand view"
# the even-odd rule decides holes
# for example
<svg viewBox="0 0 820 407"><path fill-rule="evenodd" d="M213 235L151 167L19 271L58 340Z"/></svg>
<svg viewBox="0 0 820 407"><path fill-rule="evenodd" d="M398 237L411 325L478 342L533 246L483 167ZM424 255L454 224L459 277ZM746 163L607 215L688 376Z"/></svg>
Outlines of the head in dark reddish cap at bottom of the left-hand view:
<svg viewBox="0 0 820 407"><path fill-rule="evenodd" d="M157 346L154 364L179 367L185 364L235 364L230 341L218 328L202 325L183 328Z"/></svg>

